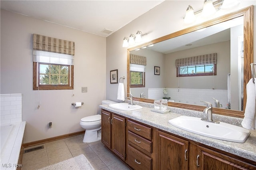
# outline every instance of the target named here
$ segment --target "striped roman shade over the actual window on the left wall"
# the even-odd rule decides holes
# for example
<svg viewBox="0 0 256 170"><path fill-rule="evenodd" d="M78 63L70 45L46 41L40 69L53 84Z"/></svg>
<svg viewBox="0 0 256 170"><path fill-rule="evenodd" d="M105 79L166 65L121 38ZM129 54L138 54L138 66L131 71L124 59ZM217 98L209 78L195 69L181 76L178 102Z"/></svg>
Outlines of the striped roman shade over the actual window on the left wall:
<svg viewBox="0 0 256 170"><path fill-rule="evenodd" d="M40 51L49 51L62 54L75 54L75 43L47 36L34 34L33 49Z"/></svg>

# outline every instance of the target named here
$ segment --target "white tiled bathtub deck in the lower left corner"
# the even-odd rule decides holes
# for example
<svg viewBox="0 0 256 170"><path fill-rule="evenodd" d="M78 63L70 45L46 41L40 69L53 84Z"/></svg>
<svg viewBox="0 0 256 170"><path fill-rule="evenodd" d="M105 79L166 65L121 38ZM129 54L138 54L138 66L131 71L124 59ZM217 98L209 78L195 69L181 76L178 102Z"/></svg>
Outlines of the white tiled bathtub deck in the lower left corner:
<svg viewBox="0 0 256 170"><path fill-rule="evenodd" d="M18 159L20 156L20 148L22 145L26 122L10 123L5 125L13 125L13 129L8 136L8 143L1 152L1 170L16 170ZM3 125L1 125L3 126Z"/></svg>

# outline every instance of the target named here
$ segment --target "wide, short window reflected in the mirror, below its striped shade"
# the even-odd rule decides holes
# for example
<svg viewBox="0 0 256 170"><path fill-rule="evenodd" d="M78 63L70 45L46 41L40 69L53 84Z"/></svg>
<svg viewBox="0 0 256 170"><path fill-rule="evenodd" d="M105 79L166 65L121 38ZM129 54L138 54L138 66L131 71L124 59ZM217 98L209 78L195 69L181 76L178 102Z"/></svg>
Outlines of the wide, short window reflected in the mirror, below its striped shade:
<svg viewBox="0 0 256 170"><path fill-rule="evenodd" d="M177 77L216 75L216 64L177 67Z"/></svg>

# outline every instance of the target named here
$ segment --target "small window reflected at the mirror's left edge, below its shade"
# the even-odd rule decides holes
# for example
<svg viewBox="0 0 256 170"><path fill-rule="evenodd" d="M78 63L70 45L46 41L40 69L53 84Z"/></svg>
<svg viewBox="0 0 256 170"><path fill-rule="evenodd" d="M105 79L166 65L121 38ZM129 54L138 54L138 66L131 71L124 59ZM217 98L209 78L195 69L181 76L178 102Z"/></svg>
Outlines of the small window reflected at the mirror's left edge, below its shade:
<svg viewBox="0 0 256 170"><path fill-rule="evenodd" d="M130 87L145 87L145 72L130 71Z"/></svg>

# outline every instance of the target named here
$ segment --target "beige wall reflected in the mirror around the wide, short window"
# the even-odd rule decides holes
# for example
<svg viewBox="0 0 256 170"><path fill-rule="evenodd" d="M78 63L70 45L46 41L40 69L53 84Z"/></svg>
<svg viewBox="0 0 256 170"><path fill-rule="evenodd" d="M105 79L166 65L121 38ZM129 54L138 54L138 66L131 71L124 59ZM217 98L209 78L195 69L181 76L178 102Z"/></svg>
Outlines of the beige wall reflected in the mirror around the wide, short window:
<svg viewBox="0 0 256 170"><path fill-rule="evenodd" d="M176 59L217 53L217 75L176 77ZM192 54L192 55L191 55ZM184 89L222 89L227 90L227 75L230 73L230 41L204 45L166 54L166 87Z"/></svg>

